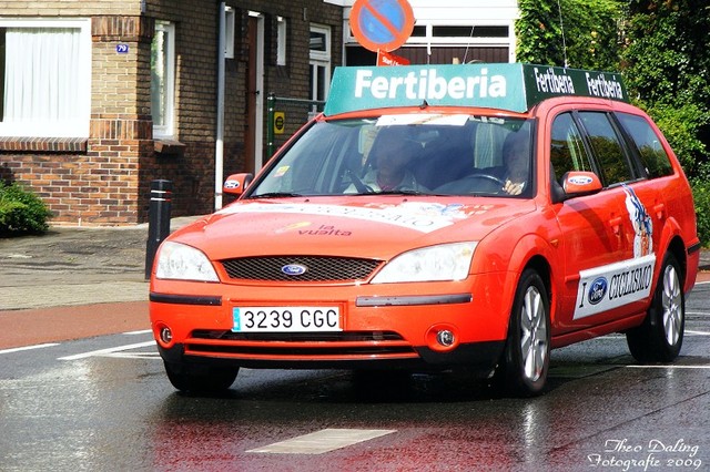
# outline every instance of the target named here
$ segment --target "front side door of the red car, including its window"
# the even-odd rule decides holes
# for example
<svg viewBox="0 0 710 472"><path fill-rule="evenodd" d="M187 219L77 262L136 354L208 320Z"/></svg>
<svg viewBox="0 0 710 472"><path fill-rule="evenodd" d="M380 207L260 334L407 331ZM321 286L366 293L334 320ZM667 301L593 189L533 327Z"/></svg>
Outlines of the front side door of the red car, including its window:
<svg viewBox="0 0 710 472"><path fill-rule="evenodd" d="M591 142L574 112L557 114L550 124L550 164L554 182L561 183L570 171L599 174ZM562 281L554 335L589 327L608 307L610 277L626 258L621 187L605 188L554 205L559 225Z"/></svg>

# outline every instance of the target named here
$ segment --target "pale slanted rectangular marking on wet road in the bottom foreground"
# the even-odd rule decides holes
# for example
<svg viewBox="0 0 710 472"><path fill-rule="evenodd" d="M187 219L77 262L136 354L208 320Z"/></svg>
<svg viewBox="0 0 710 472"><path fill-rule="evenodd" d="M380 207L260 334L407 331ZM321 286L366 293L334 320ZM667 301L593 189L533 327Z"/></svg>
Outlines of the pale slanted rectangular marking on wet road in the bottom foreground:
<svg viewBox="0 0 710 472"><path fill-rule="evenodd" d="M390 434L397 430L353 430L325 429L311 434L300 435L286 441L275 442L263 448L251 449L246 452L263 452L270 454L323 454L324 452L369 441Z"/></svg>

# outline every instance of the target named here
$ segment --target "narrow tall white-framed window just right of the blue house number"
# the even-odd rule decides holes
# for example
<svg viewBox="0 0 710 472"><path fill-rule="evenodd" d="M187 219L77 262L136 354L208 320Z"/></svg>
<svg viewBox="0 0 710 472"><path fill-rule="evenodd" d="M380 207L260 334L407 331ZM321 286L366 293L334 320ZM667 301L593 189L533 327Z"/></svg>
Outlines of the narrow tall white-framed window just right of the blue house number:
<svg viewBox="0 0 710 472"><path fill-rule="evenodd" d="M159 21L151 45L151 114L153 136L173 135L175 25Z"/></svg>

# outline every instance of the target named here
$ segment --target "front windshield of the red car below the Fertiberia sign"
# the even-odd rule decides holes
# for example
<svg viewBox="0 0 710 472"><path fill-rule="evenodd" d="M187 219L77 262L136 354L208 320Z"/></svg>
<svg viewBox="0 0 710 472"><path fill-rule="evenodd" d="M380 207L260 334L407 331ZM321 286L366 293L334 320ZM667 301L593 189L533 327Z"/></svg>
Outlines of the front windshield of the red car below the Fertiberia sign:
<svg viewBox="0 0 710 472"><path fill-rule="evenodd" d="M442 114L318 122L248 197L529 196L531 129L530 120Z"/></svg>

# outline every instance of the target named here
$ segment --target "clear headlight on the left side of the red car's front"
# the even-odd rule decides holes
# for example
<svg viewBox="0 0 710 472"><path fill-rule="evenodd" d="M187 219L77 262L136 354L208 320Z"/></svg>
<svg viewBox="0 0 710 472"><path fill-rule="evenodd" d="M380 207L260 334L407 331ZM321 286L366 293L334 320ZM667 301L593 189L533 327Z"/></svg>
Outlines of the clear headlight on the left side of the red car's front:
<svg viewBox="0 0 710 472"><path fill-rule="evenodd" d="M155 277L199 281L220 280L204 253L172 242L165 242L160 246Z"/></svg>

